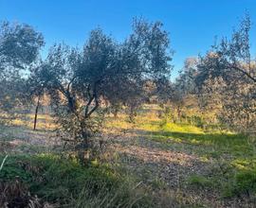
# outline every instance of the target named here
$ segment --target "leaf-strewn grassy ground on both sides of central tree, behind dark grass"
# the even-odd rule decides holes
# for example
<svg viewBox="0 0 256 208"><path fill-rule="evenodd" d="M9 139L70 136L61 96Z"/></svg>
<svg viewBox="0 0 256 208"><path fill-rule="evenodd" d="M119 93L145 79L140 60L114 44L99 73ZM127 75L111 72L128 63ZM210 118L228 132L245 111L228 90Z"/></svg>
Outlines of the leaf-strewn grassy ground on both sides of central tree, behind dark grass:
<svg viewBox="0 0 256 208"><path fill-rule="evenodd" d="M135 124L124 114L108 116L101 160L154 192L159 207L255 207L255 136L163 123L157 111L156 106L144 107ZM41 115L36 131L22 120L2 130L1 151L60 149L46 117Z"/></svg>

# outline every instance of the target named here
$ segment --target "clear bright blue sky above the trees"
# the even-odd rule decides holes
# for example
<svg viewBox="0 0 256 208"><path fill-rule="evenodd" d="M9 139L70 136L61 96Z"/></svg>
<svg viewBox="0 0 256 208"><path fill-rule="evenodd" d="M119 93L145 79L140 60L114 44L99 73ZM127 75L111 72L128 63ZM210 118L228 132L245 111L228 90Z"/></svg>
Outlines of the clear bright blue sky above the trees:
<svg viewBox="0 0 256 208"><path fill-rule="evenodd" d="M131 33L133 18L161 21L174 50L173 78L186 58L204 54L215 37L229 37L246 12L254 24L256 55L256 0L0 0L0 21L26 23L43 33L43 57L53 43L82 46L99 26L122 41Z"/></svg>

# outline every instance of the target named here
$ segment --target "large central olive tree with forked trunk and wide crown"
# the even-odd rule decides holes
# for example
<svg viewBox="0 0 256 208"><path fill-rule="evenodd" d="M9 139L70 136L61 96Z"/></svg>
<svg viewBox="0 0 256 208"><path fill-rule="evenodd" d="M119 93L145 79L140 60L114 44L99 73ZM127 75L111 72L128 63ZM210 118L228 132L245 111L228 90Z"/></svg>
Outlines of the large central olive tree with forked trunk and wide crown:
<svg viewBox="0 0 256 208"><path fill-rule="evenodd" d="M82 149L81 161L93 145L92 136L101 130L99 115L107 102L142 102L138 95L146 80L169 76L169 38L161 26L136 20L124 43L95 29L82 51L66 45L50 49L39 75L47 83L57 123Z"/></svg>

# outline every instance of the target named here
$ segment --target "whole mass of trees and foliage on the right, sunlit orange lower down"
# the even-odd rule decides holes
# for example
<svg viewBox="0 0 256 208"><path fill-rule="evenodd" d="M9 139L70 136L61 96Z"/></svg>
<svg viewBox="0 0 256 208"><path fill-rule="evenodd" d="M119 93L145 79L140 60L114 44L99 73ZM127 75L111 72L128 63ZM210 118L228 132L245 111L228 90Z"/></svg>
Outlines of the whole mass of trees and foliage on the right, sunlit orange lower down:
<svg viewBox="0 0 256 208"><path fill-rule="evenodd" d="M256 64L251 57L250 19L246 17L230 39L223 38L198 59L188 59L174 82L178 117L204 120L205 126L220 124L221 128L254 132Z"/></svg>

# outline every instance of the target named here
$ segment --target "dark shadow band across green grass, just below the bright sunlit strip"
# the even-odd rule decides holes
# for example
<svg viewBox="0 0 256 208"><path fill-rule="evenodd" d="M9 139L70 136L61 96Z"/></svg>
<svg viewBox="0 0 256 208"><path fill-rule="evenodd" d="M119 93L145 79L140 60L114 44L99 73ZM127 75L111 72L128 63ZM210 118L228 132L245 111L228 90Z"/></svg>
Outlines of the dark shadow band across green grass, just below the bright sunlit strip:
<svg viewBox="0 0 256 208"><path fill-rule="evenodd" d="M189 133L170 130L137 130L138 136L154 141L159 147L172 150L184 150L210 157L222 157L224 154L235 157L255 155L255 143L243 134L231 133Z"/></svg>

